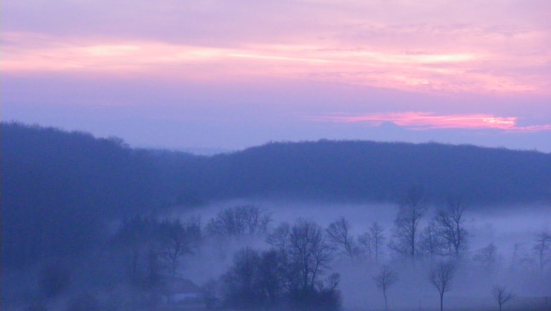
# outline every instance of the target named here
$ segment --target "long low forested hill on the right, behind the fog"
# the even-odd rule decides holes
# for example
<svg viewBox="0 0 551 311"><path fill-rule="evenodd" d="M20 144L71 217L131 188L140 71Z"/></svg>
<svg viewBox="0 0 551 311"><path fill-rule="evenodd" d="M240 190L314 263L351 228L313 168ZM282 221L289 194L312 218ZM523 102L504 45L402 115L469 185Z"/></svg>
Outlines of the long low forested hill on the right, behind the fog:
<svg viewBox="0 0 551 311"><path fill-rule="evenodd" d="M460 195L473 204L551 199L551 154L439 143L268 143L196 159L182 175L206 198L396 201L415 185L432 199Z"/></svg>

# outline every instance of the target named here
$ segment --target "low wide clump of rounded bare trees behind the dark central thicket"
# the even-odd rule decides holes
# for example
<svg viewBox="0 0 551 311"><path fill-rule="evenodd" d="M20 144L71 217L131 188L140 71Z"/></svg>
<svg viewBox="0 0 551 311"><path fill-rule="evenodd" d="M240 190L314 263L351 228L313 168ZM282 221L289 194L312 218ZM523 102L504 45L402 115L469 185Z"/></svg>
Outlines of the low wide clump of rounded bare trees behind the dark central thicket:
<svg viewBox="0 0 551 311"><path fill-rule="evenodd" d="M271 214L256 206L235 206L220 211L206 225L208 233L221 236L263 235L268 231Z"/></svg>

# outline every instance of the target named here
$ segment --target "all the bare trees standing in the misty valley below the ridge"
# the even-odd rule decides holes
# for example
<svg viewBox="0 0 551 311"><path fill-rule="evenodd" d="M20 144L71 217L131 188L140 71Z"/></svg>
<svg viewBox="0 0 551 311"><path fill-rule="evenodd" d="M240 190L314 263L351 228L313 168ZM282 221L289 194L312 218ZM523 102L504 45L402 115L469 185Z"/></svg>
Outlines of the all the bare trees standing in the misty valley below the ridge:
<svg viewBox="0 0 551 311"><path fill-rule="evenodd" d="M326 227L304 218L274 223L271 213L257 206L223 209L204 225L197 216L126 218L94 255L95 265L111 269L95 272L95 281L83 281L75 277L83 262L45 265L36 276L39 288L24 301L28 310L41 311L52 307L67 311L177 310L182 305L171 299L170 284L188 273L187 262L211 257L205 252L209 245L230 254L232 262L225 272L202 284L199 300L207 310L340 310L340 283L350 281L341 280L338 273L343 264L356 269L356 274L370 271L372 275L359 283L366 288L367 283L374 283L386 310L397 297L405 297L403 304L410 295L419 294L396 291L397 283L421 288L427 284L425 291L439 296L432 305L439 303L444 310L445 298L456 289L458 279L470 273L477 275L469 281L471 286L492 282L484 290L500 308L514 304L516 283L528 281L534 288L549 290L550 232L531 237L526 241L528 248L515 250L505 265L493 243L469 251L473 237L466 229L469 209L460 199L450 198L429 213L422 192L412 189L398 207L390 228L373 219L362 224L367 229L364 232L353 230L359 224L352 225L344 217ZM232 241L240 242L240 247L222 246ZM210 268L201 267L204 271ZM415 307L415 303L402 307ZM516 306L526 310L521 303ZM550 305L531 310L546 307Z"/></svg>

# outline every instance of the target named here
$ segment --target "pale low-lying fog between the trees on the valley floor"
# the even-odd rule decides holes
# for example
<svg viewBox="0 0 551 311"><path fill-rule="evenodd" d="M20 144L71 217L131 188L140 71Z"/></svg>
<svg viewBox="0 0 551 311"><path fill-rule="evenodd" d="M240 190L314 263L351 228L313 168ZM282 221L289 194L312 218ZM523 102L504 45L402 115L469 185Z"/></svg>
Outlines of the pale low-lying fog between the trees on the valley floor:
<svg viewBox="0 0 551 311"><path fill-rule="evenodd" d="M297 218L315 221L324 228L343 217L350 223L350 234L357 237L378 222L384 228L384 242L377 262L366 256L349 258L336 256L326 274L340 274L339 288L344 310L383 310L384 297L377 288L374 276L381 266L396 271L398 281L387 292L389 308L394 310L437 310L439 292L429 283L429 259L403 259L389 249L393 236L398 204L307 204L296 201L233 200L219 201L191 211L175 209L167 217L201 216L205 225L223 209L232 206L254 205L271 213L271 228L282 222L292 225ZM464 217L467 248L456 266L449 292L444 295L446 309L486 310L497 307L492 297L493 286L505 286L514 293L507 303L510 310L551 304L551 262L544 270L535 256L534 247L540 233L551 230L551 206L469 206ZM419 232L434 218L431 206L419 223ZM492 247L491 245L494 245ZM200 254L184 260L182 276L202 284L218 278L232 264L233 254L242 247L266 250L270 247L263 237L233 238L230 242L211 242ZM493 252L492 252L493 251ZM434 262L433 262L434 264ZM549 305L546 305L549 306ZM505 308L505 307L504 307ZM506 310L506 308L505 308Z"/></svg>

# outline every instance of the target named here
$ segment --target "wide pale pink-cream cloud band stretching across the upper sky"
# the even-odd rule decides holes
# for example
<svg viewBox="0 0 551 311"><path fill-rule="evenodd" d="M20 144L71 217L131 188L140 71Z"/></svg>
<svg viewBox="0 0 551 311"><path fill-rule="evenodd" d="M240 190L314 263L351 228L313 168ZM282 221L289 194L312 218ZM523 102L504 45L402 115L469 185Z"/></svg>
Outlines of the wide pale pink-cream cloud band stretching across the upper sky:
<svg viewBox="0 0 551 311"><path fill-rule="evenodd" d="M165 76L216 83L218 78L297 78L413 91L475 93L548 92L549 79L499 74L485 52L408 52L380 47L251 44L205 47L162 41L37 40L37 34L6 33L1 68L10 74L73 72ZM533 61L539 61L533 57ZM519 62L515 66L518 66ZM209 78L210 77L210 78Z"/></svg>

